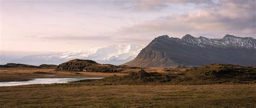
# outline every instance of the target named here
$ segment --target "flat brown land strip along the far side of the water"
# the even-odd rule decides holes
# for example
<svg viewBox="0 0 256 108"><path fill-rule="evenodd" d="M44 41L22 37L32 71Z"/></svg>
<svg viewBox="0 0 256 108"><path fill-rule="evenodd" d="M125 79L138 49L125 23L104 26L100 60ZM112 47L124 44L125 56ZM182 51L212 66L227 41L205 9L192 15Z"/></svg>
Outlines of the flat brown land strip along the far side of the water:
<svg viewBox="0 0 256 108"><path fill-rule="evenodd" d="M37 73L42 72L42 73ZM124 76L129 73L71 72L38 68L0 68L0 82L28 81L31 78L96 78Z"/></svg>

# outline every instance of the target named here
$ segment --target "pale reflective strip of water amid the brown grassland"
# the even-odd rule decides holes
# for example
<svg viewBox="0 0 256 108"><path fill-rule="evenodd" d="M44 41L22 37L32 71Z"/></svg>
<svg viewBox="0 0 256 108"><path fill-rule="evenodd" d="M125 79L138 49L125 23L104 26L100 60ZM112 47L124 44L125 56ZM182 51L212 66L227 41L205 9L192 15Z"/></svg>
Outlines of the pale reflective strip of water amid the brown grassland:
<svg viewBox="0 0 256 108"><path fill-rule="evenodd" d="M85 79L102 79L102 78L31 78L26 82L0 82L0 86L16 86L29 84L53 84L53 83L68 83Z"/></svg>

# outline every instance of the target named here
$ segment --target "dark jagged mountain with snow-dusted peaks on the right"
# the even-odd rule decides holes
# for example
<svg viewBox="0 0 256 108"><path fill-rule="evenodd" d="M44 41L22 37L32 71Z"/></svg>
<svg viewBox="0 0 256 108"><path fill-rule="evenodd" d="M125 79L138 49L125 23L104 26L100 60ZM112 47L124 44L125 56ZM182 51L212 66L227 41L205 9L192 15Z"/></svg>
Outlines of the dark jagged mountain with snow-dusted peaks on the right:
<svg viewBox="0 0 256 108"><path fill-rule="evenodd" d="M139 67L199 66L207 64L256 65L256 39L226 35L219 39L167 35L152 40L124 65Z"/></svg>

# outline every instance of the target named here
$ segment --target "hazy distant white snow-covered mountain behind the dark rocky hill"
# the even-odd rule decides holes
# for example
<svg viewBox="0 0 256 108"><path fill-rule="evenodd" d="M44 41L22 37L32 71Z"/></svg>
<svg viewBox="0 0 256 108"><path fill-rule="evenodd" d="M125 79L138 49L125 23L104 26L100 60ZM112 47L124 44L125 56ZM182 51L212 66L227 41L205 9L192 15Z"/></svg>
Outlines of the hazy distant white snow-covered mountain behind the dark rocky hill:
<svg viewBox="0 0 256 108"><path fill-rule="evenodd" d="M61 64L71 59L91 59L102 64L120 65L133 60L144 45L121 44L102 48L87 48L85 50L57 53L55 55L32 55L11 60L12 63L32 65Z"/></svg>

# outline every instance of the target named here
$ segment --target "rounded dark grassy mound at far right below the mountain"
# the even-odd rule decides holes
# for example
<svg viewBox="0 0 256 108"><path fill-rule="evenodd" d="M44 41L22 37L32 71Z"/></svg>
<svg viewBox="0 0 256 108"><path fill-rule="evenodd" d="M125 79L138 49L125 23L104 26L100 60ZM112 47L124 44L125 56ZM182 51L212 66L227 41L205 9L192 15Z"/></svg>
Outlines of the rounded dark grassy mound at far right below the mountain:
<svg viewBox="0 0 256 108"><path fill-rule="evenodd" d="M256 68L230 64L212 64L195 67L185 72L185 79L191 82L253 82L256 83Z"/></svg>

